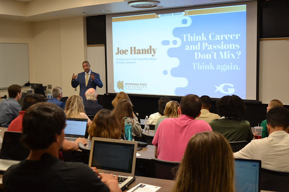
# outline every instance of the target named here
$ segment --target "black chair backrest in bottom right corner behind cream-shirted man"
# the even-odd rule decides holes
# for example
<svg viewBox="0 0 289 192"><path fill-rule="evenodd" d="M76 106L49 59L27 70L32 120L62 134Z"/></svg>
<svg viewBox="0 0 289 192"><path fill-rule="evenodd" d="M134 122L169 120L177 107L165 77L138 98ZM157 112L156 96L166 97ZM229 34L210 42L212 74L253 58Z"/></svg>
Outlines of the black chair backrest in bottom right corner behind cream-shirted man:
<svg viewBox="0 0 289 192"><path fill-rule="evenodd" d="M260 187L265 191L288 191L289 172L261 167Z"/></svg>

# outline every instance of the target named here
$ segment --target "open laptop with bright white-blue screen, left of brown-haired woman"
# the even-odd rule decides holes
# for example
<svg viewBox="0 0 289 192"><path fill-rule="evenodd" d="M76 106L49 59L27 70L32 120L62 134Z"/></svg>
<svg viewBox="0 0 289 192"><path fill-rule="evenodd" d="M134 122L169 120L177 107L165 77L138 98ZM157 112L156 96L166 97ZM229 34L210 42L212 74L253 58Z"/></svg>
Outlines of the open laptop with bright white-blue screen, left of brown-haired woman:
<svg viewBox="0 0 289 192"><path fill-rule="evenodd" d="M79 137L84 137L86 132L87 119L67 118L64 129L65 139L75 141Z"/></svg>

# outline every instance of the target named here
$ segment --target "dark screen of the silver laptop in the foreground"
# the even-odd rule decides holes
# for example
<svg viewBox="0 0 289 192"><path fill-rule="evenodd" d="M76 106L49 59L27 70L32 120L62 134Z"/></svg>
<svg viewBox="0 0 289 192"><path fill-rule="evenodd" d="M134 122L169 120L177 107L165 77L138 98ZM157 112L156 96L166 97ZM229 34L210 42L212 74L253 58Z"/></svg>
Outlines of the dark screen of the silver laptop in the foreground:
<svg viewBox="0 0 289 192"><path fill-rule="evenodd" d="M132 172L134 144L94 141L91 167L97 169Z"/></svg>

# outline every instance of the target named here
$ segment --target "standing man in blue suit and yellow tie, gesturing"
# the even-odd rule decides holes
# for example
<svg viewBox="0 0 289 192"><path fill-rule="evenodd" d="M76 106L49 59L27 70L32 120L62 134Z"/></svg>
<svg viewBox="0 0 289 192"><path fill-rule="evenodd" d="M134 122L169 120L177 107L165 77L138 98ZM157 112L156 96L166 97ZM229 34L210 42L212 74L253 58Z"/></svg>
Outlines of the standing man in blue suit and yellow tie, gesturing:
<svg viewBox="0 0 289 192"><path fill-rule="evenodd" d="M84 61L82 63L82 69L84 72L78 73L78 75L72 75L71 86L76 88L78 85L80 87L79 95L85 101L85 92L89 88L94 88L96 90L96 86L99 88L103 87L103 84L100 80L100 76L98 73L94 73L90 70L90 64L88 61Z"/></svg>

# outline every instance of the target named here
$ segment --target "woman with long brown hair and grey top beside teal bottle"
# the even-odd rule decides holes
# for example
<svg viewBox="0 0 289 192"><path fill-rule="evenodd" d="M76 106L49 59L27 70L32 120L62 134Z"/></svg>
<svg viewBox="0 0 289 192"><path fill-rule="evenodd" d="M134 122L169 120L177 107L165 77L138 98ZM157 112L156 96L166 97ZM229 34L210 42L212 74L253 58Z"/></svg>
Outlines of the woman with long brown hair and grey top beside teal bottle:
<svg viewBox="0 0 289 192"><path fill-rule="evenodd" d="M140 123L138 122L137 117L134 112L132 112L131 102L127 99L119 100L112 110L112 113L115 115L121 133L125 134L125 122L123 117L128 117L131 121L131 132L132 136L136 136L141 134L142 128L140 127Z"/></svg>

